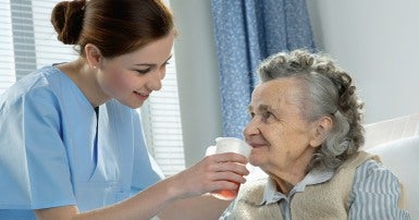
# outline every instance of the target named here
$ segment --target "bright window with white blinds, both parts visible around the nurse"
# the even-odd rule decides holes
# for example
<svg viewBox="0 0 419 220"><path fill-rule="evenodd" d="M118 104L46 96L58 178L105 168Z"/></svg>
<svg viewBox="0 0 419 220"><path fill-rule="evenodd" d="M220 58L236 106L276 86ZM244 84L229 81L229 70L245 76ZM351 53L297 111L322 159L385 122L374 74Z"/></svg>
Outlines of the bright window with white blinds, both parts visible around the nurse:
<svg viewBox="0 0 419 220"><path fill-rule="evenodd" d="M0 0L0 94L29 72L76 59L71 46L57 40L50 13L57 0ZM141 112L149 151L165 175L185 168L174 58L161 91Z"/></svg>

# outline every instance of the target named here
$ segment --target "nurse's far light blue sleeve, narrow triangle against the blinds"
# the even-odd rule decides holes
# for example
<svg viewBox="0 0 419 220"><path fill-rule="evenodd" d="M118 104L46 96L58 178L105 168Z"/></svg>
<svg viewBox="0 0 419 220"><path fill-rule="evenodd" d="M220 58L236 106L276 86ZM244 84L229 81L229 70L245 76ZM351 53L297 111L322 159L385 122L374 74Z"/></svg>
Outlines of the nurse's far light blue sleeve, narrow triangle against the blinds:
<svg viewBox="0 0 419 220"><path fill-rule="evenodd" d="M164 179L160 167L147 150L143 124L136 111L134 113L134 138L132 194L138 193Z"/></svg>

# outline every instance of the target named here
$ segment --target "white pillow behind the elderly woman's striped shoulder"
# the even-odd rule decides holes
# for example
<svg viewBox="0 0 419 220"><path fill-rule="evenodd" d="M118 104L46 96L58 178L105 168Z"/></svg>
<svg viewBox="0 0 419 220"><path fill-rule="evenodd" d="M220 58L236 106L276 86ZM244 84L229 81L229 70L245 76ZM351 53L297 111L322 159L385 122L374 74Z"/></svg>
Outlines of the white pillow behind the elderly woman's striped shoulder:
<svg viewBox="0 0 419 220"><path fill-rule="evenodd" d="M410 218L419 219L419 136L392 140L367 151L379 155L384 167L398 176Z"/></svg>

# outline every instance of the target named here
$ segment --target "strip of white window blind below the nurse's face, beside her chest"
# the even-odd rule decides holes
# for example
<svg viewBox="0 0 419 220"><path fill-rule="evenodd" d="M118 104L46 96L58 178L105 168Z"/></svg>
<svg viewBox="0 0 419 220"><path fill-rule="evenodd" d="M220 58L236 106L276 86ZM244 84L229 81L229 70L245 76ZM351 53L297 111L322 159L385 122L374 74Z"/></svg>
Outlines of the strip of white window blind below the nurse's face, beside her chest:
<svg viewBox="0 0 419 220"><path fill-rule="evenodd" d="M140 113L147 124L144 132L149 150L163 173L170 176L185 169L174 56L167 66L161 90L151 94Z"/></svg>

